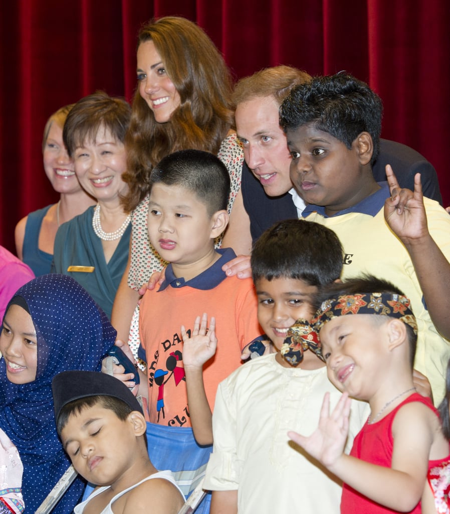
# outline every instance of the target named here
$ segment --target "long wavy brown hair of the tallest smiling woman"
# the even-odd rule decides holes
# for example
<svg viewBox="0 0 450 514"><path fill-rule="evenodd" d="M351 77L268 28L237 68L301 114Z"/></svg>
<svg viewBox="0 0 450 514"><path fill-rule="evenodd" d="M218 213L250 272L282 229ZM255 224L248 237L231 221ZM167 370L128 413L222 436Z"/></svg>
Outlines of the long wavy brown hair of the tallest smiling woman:
<svg viewBox="0 0 450 514"><path fill-rule="evenodd" d="M168 122L157 123L136 88L125 139L128 171L123 178L129 193L123 203L127 211L148 193L150 171L163 157L185 149L217 154L233 125L230 72L198 25L166 16L142 27L138 47L146 41L153 41L181 102Z"/></svg>

